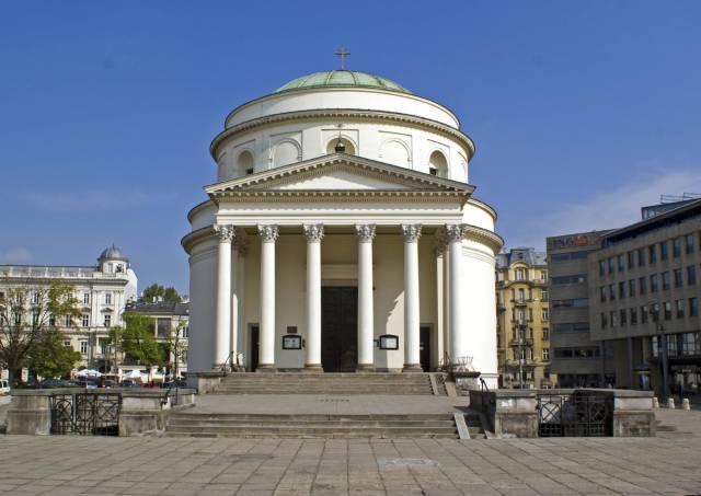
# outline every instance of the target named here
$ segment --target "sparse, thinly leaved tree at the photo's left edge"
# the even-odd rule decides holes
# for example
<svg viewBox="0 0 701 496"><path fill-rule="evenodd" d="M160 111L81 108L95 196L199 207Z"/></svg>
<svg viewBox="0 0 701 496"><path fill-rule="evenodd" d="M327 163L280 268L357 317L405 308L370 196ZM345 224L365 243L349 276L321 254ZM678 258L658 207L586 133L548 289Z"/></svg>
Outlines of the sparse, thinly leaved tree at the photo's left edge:
<svg viewBox="0 0 701 496"><path fill-rule="evenodd" d="M16 382L47 330L57 319L72 323L80 316L74 287L64 281L51 281L36 287L28 282L8 288L0 296L0 367L10 372L10 382Z"/></svg>

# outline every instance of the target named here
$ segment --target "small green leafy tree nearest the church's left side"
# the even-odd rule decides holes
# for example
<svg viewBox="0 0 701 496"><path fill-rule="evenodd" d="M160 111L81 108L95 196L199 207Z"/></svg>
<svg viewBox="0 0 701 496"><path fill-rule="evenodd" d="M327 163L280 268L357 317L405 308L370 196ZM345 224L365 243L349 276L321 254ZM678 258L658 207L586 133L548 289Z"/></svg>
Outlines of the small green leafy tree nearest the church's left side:
<svg viewBox="0 0 701 496"><path fill-rule="evenodd" d="M153 337L153 320L136 312L125 312L123 319L126 326L111 331L111 339L114 332L116 349L138 365L162 366L163 350Z"/></svg>

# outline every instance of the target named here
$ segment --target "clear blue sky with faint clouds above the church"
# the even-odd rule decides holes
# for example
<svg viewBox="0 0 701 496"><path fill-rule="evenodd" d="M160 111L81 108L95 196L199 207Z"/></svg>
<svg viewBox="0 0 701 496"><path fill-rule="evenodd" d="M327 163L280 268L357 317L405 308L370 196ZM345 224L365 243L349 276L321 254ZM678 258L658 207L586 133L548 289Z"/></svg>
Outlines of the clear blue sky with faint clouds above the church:
<svg viewBox="0 0 701 496"><path fill-rule="evenodd" d="M187 292L180 239L237 105L337 66L434 99L476 143L507 246L701 193L701 2L5 2L0 263L91 264Z"/></svg>

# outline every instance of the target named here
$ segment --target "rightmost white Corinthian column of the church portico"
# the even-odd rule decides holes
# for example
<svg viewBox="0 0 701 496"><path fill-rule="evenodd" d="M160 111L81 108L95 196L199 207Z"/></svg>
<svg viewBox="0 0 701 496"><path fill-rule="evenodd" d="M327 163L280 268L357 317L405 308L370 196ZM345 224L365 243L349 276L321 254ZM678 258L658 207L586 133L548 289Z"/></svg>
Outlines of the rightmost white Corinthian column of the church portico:
<svg viewBox="0 0 701 496"><path fill-rule="evenodd" d="M460 268L462 261L462 224L446 226L448 237L448 322L450 333L450 360L456 364L468 356L468 336L462 318L462 285Z"/></svg>

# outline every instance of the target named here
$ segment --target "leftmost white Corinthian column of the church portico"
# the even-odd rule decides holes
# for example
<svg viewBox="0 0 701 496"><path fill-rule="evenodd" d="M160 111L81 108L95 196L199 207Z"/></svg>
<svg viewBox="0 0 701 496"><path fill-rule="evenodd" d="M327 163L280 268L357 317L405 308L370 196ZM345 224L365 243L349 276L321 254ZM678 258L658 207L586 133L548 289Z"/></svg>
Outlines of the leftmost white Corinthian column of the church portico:
<svg viewBox="0 0 701 496"><path fill-rule="evenodd" d="M231 242L233 226L215 226L219 238L217 266L217 324L211 362L214 368L223 364L229 355L231 339Z"/></svg>

